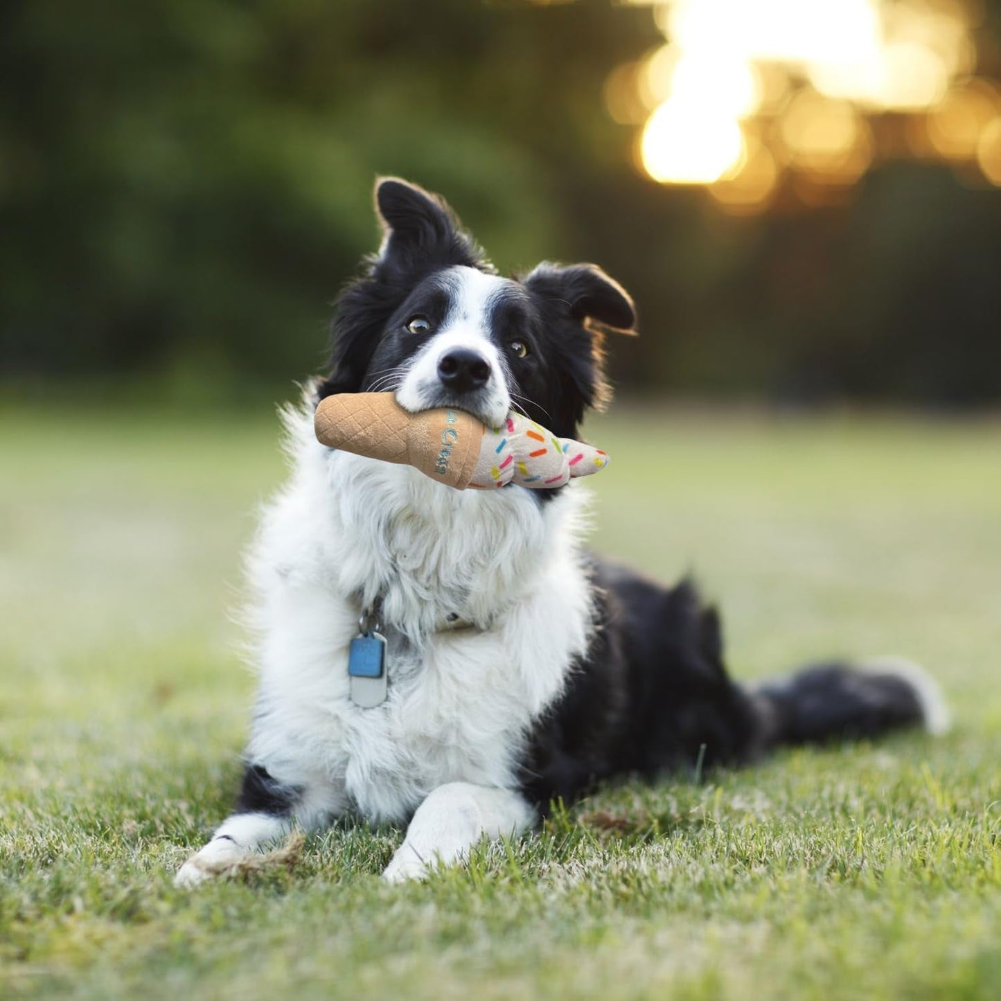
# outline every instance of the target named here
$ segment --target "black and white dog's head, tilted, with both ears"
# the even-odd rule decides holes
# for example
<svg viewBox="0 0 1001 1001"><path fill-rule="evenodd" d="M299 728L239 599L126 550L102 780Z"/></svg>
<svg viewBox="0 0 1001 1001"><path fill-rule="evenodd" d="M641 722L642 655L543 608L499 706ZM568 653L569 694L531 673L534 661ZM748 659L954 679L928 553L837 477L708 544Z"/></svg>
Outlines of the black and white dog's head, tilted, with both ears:
<svg viewBox="0 0 1001 1001"><path fill-rule="evenodd" d="M594 264L540 264L504 278L448 206L404 181L375 185L377 255L337 302L321 396L393 390L411 412L511 409L573 437L609 395L603 328L629 331L625 290Z"/></svg>

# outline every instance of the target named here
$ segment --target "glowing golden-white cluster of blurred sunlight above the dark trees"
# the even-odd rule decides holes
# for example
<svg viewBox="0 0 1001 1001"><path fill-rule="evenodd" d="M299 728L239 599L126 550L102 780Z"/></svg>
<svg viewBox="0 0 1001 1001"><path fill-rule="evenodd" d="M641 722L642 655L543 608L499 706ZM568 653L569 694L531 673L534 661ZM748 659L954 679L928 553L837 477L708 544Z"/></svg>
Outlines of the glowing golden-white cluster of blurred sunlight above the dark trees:
<svg viewBox="0 0 1001 1001"><path fill-rule="evenodd" d="M654 180L706 185L738 214L784 186L818 203L888 156L973 165L998 183L1001 101L974 75L977 0L646 4L666 43L612 74L606 104L643 125Z"/></svg>

